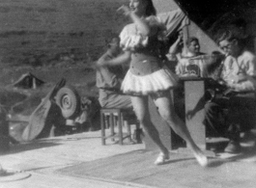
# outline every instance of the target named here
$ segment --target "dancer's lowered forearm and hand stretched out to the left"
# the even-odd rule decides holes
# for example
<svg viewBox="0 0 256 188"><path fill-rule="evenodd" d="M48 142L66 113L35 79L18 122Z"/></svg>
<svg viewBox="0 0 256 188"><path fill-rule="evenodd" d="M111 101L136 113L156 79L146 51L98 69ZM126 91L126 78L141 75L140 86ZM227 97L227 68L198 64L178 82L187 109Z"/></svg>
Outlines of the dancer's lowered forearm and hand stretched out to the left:
<svg viewBox="0 0 256 188"><path fill-rule="evenodd" d="M117 66L121 64L125 64L129 62L130 60L130 51L125 51L123 54L120 56L111 59L111 60L100 60L97 62L98 67L103 67L103 66Z"/></svg>

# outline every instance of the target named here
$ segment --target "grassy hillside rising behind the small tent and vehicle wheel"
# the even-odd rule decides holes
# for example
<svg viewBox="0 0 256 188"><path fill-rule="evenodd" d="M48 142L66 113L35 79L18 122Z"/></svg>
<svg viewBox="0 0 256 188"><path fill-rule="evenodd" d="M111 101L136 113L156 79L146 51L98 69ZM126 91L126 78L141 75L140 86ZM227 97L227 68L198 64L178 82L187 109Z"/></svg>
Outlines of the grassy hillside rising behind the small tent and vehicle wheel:
<svg viewBox="0 0 256 188"><path fill-rule="evenodd" d="M96 95L91 65L104 39L126 21L116 13L127 0L2 0L0 87L32 72L48 83L62 77L81 94Z"/></svg>

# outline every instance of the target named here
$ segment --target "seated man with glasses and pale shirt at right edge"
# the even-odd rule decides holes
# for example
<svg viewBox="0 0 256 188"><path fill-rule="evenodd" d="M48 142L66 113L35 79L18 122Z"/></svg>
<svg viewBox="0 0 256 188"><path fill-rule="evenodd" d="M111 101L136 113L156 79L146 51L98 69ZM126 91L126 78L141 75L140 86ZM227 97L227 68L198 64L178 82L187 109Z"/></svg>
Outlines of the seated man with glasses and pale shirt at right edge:
<svg viewBox="0 0 256 188"><path fill-rule="evenodd" d="M230 139L224 151L236 153L241 151L241 131L249 130L255 123L256 59L246 50L243 38L234 30L224 31L217 43L226 57L222 63L216 63L218 66L213 68L213 72L217 72L215 79L221 80L228 90L206 103L205 124L210 134ZM225 110L226 116L223 116Z"/></svg>

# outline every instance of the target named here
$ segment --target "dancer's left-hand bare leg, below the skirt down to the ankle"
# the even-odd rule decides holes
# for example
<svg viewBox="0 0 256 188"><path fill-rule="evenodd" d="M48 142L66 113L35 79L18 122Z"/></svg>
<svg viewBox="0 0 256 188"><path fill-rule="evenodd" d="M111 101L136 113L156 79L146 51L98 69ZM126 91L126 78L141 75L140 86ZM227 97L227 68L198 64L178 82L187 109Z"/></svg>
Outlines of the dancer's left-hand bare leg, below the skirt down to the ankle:
<svg viewBox="0 0 256 188"><path fill-rule="evenodd" d="M163 146L159 138L159 133L150 119L148 96L131 96L131 103L142 127L148 132L149 136L160 148L161 152L168 154L168 149Z"/></svg>

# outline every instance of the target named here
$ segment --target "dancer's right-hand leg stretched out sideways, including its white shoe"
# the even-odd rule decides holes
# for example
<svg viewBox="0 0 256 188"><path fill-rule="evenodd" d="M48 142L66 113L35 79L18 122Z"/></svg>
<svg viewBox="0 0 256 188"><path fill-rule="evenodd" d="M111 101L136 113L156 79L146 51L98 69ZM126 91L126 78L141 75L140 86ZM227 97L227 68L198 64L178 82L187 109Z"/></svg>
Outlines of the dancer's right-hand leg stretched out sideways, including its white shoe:
<svg viewBox="0 0 256 188"><path fill-rule="evenodd" d="M185 122L182 121L175 113L174 106L170 98L170 95L156 98L155 103L158 107L160 116L165 121L167 121L167 123L179 136L181 136L185 140L187 147L192 150L199 164L201 166L206 166L206 156L203 154L202 150L195 145L187 130L187 127L185 126Z"/></svg>

